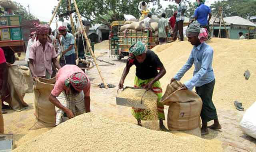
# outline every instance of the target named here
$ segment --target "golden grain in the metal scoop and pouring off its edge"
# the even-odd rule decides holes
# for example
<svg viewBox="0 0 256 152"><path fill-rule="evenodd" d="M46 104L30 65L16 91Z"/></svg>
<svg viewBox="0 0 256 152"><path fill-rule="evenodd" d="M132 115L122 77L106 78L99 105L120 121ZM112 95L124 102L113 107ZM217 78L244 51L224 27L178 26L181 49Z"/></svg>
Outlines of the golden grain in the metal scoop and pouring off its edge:
<svg viewBox="0 0 256 152"><path fill-rule="evenodd" d="M144 106L146 107L146 110L143 110L143 112L147 112L147 113L150 112L150 114L147 116L147 119L157 120L158 119L158 112L157 112L158 97L153 92L147 91L145 93L145 91L146 90L144 89L126 88L118 95L118 97L126 98L128 102L131 102L132 105L136 106L138 104L141 104L141 98L143 96L142 104L144 104Z"/></svg>

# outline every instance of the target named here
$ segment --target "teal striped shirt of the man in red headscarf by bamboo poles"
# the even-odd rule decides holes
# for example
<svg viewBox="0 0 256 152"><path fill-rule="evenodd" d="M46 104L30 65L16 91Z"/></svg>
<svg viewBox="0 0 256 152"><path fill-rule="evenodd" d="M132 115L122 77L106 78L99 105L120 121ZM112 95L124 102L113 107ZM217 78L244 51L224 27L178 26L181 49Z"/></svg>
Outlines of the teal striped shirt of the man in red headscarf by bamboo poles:
<svg viewBox="0 0 256 152"><path fill-rule="evenodd" d="M67 32L66 36L62 36L61 43L64 46L64 50L67 50L70 45L75 44L75 39L73 34ZM73 46L70 51L64 54L65 56L69 56L71 54L76 54L75 47Z"/></svg>

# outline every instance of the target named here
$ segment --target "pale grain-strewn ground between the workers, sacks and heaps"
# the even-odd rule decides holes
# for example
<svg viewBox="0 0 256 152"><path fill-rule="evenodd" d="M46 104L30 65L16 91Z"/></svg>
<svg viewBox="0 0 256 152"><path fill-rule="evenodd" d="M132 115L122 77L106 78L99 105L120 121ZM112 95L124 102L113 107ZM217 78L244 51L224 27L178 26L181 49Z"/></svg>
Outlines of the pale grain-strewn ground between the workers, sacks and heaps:
<svg viewBox="0 0 256 152"><path fill-rule="evenodd" d="M136 124L135 118L131 114L131 108L116 105L116 95L118 90L118 83L120 76L115 74L116 68L124 66L126 58L117 60L116 58L110 58L108 50L96 50L99 59L103 59L116 65L110 66L103 62L98 62L100 70L105 78L106 83L116 85L115 88L99 88L98 84L102 81L96 68L90 71L86 71L92 83L91 87L91 109L92 112L96 112L104 117ZM16 64L26 64L24 61L17 61ZM218 84L216 84L218 85ZM4 126L6 134L14 134L15 147L23 144L24 142L38 136L50 128L44 128L41 130L31 131L29 128L34 124L35 116L34 112L34 93L26 94L25 102L29 104L29 108L22 112L14 112L8 110L8 114L4 114ZM230 105L233 106L233 105ZM256 140L244 135L239 128L240 120L244 112L238 112L234 108L223 108L223 106L216 105L220 123L222 124L222 130L215 131L209 130L210 134L202 136L209 140L220 140L224 152L256 152ZM165 106L165 115L167 118L168 106ZM211 124L212 122L210 122ZM164 121L167 127L167 122ZM150 128L149 122L142 122L142 125L146 128ZM213 150L214 152L214 150Z"/></svg>

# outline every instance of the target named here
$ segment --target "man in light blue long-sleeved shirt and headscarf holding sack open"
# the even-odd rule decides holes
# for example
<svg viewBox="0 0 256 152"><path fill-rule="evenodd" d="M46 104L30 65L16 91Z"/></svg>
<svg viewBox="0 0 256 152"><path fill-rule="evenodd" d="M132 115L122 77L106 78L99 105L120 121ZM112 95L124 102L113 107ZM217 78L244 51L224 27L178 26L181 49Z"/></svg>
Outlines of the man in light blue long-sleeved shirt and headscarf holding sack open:
<svg viewBox="0 0 256 152"><path fill-rule="evenodd" d="M195 65L192 79L187 81L181 89L192 90L194 86L196 86L196 93L203 101L200 114L202 119L201 134L206 135L209 134L208 128L214 130L221 129L216 108L212 102L212 94L215 85L215 76L212 69L213 49L204 42L207 40L208 34L205 28L200 28L198 21L194 21L188 26L186 35L188 41L194 48L192 49L186 64L171 79L171 83L174 80L180 80L192 65ZM207 123L211 120L214 120L214 124L208 127Z"/></svg>

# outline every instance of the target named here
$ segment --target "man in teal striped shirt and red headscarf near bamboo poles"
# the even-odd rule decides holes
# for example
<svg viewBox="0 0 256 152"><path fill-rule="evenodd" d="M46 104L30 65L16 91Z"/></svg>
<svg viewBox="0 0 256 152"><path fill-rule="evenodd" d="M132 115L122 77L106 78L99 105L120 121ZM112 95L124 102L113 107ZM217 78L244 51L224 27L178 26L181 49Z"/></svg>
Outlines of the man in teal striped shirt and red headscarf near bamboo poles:
<svg viewBox="0 0 256 152"><path fill-rule="evenodd" d="M59 27L60 35L62 35L61 42L62 46L64 46L64 50L62 54L64 55L64 62L66 64L74 64L76 65L76 51L74 48L75 39L73 34L67 32L66 26Z"/></svg>

